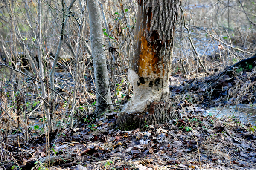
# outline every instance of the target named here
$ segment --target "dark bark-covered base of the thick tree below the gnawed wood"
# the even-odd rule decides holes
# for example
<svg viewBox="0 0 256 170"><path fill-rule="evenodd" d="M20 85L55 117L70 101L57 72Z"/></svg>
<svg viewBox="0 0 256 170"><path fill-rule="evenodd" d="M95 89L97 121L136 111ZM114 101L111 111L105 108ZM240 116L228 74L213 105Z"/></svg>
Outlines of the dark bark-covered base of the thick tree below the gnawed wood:
<svg viewBox="0 0 256 170"><path fill-rule="evenodd" d="M143 112L126 113L121 112L117 126L121 130L132 130L143 128L149 124L164 124L175 118L177 113L169 103L165 101L154 101Z"/></svg>

